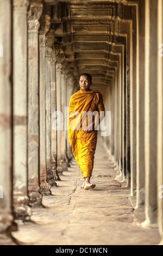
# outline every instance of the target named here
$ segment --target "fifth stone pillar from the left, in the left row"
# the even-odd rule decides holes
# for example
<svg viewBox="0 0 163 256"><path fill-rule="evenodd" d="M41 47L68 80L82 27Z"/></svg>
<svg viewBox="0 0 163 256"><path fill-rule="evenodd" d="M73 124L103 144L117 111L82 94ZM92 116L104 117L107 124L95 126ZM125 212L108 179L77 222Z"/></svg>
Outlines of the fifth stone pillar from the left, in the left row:
<svg viewBox="0 0 163 256"><path fill-rule="evenodd" d="M55 49L54 47L52 48L52 57L51 57L51 167L52 167L52 172L55 180L60 179L58 172L57 172L57 130L53 129L53 114L57 111L57 106L56 106L56 100L57 100L57 95L56 95L56 74L55 74L55 65L57 62L57 57L56 57ZM54 185L57 185L56 183Z"/></svg>

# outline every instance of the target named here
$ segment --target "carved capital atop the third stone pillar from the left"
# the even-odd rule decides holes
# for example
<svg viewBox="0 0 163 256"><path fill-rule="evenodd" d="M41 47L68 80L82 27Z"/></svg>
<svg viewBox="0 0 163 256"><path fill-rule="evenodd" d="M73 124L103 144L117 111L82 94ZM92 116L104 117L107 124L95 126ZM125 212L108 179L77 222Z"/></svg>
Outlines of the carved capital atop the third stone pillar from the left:
<svg viewBox="0 0 163 256"><path fill-rule="evenodd" d="M28 32L37 32L40 27L39 19L43 10L42 3L32 3L28 11Z"/></svg>

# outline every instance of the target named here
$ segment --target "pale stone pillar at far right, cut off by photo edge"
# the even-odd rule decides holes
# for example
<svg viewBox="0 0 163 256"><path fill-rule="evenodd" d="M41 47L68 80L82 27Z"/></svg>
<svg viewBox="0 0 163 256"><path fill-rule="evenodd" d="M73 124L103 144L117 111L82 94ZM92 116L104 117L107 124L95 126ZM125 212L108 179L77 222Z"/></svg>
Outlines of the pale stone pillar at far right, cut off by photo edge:
<svg viewBox="0 0 163 256"><path fill-rule="evenodd" d="M158 0L158 138L157 138L157 188L158 188L158 224L161 235L160 245L163 245L163 1Z"/></svg>

